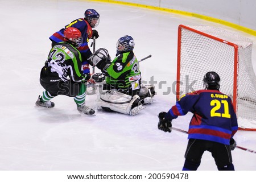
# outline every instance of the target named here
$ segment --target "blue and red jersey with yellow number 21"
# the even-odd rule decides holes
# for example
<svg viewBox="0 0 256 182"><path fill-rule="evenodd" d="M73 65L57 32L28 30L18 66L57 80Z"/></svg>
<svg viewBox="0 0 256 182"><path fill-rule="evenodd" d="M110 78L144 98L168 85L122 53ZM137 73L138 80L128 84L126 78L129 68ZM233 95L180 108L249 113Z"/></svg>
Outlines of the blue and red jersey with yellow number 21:
<svg viewBox="0 0 256 182"><path fill-rule="evenodd" d="M185 94L166 114L175 119L193 113L189 123L188 139L203 139L229 144L238 130L232 100L218 90L198 90Z"/></svg>

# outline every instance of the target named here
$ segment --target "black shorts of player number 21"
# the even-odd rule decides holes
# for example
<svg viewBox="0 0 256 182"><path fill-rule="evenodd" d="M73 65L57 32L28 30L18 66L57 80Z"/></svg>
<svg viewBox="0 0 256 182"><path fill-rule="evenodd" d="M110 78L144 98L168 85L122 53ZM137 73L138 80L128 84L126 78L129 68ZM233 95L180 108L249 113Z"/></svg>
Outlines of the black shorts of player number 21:
<svg viewBox="0 0 256 182"><path fill-rule="evenodd" d="M200 163L204 151L212 153L218 167L223 167L232 163L232 155L229 145L200 139L188 140L185 159Z"/></svg>

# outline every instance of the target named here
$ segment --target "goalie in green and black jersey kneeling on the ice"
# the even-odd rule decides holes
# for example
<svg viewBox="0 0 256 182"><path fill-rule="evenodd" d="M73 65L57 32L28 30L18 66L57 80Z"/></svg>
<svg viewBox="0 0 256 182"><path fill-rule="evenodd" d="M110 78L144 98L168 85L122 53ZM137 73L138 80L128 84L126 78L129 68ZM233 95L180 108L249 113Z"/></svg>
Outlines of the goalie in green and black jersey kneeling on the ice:
<svg viewBox="0 0 256 182"><path fill-rule="evenodd" d="M97 105L105 110L135 115L140 104L152 103L154 87L141 84L141 71L133 52L134 45L134 39L125 35L117 41L117 54L113 61L104 48L98 49L90 57L92 64L106 76L106 84L103 85L105 91L97 98Z"/></svg>

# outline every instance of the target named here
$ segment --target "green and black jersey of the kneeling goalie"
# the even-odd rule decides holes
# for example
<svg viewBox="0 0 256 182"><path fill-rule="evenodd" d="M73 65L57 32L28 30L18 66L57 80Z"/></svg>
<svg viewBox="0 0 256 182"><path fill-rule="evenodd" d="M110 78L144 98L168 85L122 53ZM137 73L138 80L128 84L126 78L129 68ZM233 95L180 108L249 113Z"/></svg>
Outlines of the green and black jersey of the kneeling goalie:
<svg viewBox="0 0 256 182"><path fill-rule="evenodd" d="M118 90L131 91L141 87L141 71L139 62L133 51L121 53L106 68L106 84Z"/></svg>

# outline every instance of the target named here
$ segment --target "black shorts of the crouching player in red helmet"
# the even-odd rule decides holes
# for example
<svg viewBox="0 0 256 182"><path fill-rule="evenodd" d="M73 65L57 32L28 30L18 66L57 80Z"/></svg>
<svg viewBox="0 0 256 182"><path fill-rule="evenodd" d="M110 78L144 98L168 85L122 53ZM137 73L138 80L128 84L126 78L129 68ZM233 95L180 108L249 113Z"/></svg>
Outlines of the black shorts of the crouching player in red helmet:
<svg viewBox="0 0 256 182"><path fill-rule="evenodd" d="M75 97L79 94L81 82L63 81L57 73L49 72L45 67L40 73L40 84L46 89L51 96L65 95Z"/></svg>

